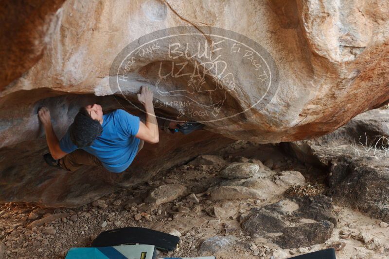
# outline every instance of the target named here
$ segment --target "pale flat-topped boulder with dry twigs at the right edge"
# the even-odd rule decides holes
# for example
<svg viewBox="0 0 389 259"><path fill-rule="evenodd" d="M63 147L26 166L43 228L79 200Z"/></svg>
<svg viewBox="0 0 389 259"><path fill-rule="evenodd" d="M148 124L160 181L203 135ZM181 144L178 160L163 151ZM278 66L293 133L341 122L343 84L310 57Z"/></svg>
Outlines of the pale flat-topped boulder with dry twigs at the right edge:
<svg viewBox="0 0 389 259"><path fill-rule="evenodd" d="M379 141L379 136L389 136L389 109L361 113L334 132L287 146L302 162L327 167L338 156L385 160L385 149L381 148L385 147L385 139Z"/></svg>

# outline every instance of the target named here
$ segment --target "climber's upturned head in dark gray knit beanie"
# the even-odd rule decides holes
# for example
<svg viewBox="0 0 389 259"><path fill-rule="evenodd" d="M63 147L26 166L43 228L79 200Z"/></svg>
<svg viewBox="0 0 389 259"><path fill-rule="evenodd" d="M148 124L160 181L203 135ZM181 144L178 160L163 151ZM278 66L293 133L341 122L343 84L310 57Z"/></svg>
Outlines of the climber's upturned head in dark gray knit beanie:
<svg viewBox="0 0 389 259"><path fill-rule="evenodd" d="M81 107L70 126L71 141L78 147L92 145L101 134L103 109L98 104Z"/></svg>

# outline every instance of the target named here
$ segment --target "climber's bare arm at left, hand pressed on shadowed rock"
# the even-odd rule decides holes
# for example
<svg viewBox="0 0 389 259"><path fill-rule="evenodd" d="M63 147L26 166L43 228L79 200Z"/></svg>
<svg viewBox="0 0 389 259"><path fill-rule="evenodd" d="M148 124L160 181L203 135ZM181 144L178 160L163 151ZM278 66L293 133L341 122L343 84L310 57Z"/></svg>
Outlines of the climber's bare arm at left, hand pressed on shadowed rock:
<svg viewBox="0 0 389 259"><path fill-rule="evenodd" d="M38 112L38 116L45 129L46 141L47 146L49 146L50 154L55 160L63 158L67 153L62 151L59 147L59 141L53 129L50 111L46 107L42 107Z"/></svg>

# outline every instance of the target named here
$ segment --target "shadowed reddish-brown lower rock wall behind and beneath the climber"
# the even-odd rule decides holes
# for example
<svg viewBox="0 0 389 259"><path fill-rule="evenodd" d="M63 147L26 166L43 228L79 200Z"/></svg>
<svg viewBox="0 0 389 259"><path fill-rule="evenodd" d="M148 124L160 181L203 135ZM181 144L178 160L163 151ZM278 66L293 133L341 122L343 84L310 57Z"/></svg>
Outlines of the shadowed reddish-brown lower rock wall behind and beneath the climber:
<svg viewBox="0 0 389 259"><path fill-rule="evenodd" d="M35 97L31 96L31 100ZM28 98L24 97L20 100L28 101ZM106 112L112 111L113 103L117 101L123 104L127 111L131 113L133 111L125 102L121 102L120 99L115 100L113 97L70 95L47 98L37 105L46 105L50 108L54 131L61 138L77 113L77 107L73 104L84 105L91 100L100 103L103 111ZM32 109L33 111L29 113L35 113L37 107ZM17 117L16 113L22 110L14 106L5 124L8 125L8 122L13 121L12 116ZM159 131L159 143L155 145L146 143L124 173L113 174L102 167L85 166L69 174L65 170L50 167L44 162L43 155L49 150L41 127L37 128L35 133L29 131L24 134L19 131L28 127L26 125L34 123L38 125L37 115L34 114L31 120L16 119L16 121L20 125L14 132L0 126L4 129L0 134L0 146L3 145L0 148L0 178L3 183L0 188L0 203L25 201L53 207L78 207L120 188L145 182L160 170L188 162L201 154L233 142L210 131L202 130L190 135L180 133L169 135ZM21 142L18 142L18 139Z"/></svg>

